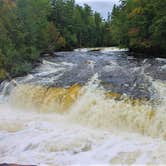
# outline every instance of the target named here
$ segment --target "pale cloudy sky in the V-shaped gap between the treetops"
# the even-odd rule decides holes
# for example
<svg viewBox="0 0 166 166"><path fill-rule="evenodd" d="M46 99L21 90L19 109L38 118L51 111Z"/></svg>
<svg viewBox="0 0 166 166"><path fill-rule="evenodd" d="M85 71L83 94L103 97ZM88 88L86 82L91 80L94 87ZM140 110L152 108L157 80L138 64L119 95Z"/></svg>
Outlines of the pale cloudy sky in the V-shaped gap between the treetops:
<svg viewBox="0 0 166 166"><path fill-rule="evenodd" d="M119 0L75 0L76 3L83 5L88 4L93 10L98 11L104 18L107 18L108 12L112 10L114 4L118 4Z"/></svg>

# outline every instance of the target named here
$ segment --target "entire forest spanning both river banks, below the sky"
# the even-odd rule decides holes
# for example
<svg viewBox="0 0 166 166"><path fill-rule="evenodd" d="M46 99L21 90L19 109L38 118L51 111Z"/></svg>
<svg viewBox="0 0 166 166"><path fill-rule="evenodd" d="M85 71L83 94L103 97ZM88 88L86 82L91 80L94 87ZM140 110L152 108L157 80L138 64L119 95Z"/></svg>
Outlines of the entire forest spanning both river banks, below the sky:
<svg viewBox="0 0 166 166"><path fill-rule="evenodd" d="M74 0L0 0L0 80L28 73L42 53L56 50L116 45L165 53L165 6L121 0L104 20Z"/></svg>

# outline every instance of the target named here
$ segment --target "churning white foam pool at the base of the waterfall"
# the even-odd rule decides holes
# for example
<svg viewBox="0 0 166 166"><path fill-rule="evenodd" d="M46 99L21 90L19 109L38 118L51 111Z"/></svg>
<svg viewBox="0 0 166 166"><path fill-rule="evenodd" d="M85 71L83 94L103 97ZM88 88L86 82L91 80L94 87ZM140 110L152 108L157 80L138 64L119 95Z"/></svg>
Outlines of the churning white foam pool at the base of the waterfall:
<svg viewBox="0 0 166 166"><path fill-rule="evenodd" d="M165 164L166 142L71 123L65 115L0 106L0 162L36 165ZM14 128L15 127L15 128Z"/></svg>

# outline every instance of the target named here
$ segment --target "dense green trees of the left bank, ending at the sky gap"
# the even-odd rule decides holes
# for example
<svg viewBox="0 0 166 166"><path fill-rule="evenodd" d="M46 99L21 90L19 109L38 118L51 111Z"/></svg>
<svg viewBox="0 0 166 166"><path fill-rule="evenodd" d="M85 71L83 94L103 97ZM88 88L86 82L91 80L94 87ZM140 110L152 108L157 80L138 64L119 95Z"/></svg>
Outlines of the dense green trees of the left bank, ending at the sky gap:
<svg viewBox="0 0 166 166"><path fill-rule="evenodd" d="M0 78L27 73L42 52L107 45L107 31L74 0L0 0Z"/></svg>

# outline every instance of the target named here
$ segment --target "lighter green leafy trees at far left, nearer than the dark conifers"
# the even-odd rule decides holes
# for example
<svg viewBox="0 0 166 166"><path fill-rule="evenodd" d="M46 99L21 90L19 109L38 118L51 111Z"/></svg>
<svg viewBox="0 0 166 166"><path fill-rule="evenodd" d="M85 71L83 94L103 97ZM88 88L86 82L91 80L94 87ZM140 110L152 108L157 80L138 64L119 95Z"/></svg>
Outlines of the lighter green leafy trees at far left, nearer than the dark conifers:
<svg viewBox="0 0 166 166"><path fill-rule="evenodd" d="M0 59L11 75L28 72L43 50L64 47L54 24L48 21L49 0L4 0L0 3Z"/></svg>

